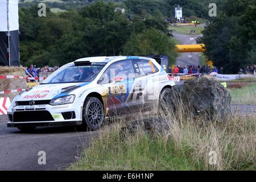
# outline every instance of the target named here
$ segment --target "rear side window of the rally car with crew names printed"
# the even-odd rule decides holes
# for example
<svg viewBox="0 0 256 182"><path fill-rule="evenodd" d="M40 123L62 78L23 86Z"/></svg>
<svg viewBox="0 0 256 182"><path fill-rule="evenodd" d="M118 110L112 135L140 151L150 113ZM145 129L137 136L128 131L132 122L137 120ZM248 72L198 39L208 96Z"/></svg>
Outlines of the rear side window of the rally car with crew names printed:
<svg viewBox="0 0 256 182"><path fill-rule="evenodd" d="M134 60L135 73L139 76L153 74L159 71L154 63L150 60Z"/></svg>

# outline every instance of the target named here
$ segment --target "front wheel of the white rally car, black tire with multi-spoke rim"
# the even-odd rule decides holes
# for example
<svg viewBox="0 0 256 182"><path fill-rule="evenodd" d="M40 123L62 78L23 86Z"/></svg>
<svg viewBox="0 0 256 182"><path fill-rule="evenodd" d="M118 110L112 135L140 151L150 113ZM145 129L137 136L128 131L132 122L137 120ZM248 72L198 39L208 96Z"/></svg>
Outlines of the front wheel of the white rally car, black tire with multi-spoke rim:
<svg viewBox="0 0 256 182"><path fill-rule="evenodd" d="M82 122L89 130L100 129L104 121L104 106L96 97L85 99L82 108Z"/></svg>

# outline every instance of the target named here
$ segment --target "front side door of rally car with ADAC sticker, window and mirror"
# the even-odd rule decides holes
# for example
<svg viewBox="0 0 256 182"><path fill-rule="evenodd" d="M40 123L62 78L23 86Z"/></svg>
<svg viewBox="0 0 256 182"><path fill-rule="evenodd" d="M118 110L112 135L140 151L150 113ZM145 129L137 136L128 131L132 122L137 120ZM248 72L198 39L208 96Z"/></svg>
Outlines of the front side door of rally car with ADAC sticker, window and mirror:
<svg viewBox="0 0 256 182"><path fill-rule="evenodd" d="M103 80L102 80L103 78ZM121 60L111 64L100 78L105 86L106 110L108 115L126 114L130 105L129 93L134 85L134 68L131 60Z"/></svg>

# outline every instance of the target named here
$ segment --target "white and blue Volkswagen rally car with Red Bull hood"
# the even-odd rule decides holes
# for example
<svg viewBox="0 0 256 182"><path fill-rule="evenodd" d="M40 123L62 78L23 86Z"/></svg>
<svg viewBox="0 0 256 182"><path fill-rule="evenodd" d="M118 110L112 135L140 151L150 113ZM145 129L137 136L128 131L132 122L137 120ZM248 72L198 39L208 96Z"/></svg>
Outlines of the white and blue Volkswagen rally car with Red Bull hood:
<svg viewBox="0 0 256 182"><path fill-rule="evenodd" d="M174 85L150 57L82 58L16 96L7 110L7 127L84 125L97 130L106 117L157 111Z"/></svg>

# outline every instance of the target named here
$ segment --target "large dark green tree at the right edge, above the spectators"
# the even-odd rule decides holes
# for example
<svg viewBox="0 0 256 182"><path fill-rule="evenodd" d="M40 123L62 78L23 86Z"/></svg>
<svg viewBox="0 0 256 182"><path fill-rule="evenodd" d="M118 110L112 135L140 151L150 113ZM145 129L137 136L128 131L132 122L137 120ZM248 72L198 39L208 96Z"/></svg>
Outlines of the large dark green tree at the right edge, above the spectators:
<svg viewBox="0 0 256 182"><path fill-rule="evenodd" d="M203 31L205 54L226 73L253 64L256 47L256 0L225 0L221 13ZM256 60L254 60L254 64Z"/></svg>

